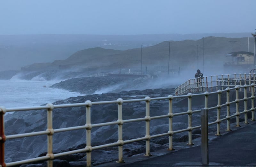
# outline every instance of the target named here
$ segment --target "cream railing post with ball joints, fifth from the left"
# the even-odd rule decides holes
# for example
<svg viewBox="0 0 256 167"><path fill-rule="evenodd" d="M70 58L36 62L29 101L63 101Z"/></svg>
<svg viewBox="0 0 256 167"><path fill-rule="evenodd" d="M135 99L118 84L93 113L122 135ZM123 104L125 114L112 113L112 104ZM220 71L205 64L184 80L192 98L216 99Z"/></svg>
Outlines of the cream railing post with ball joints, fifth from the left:
<svg viewBox="0 0 256 167"><path fill-rule="evenodd" d="M150 122L150 114L149 114L149 102L150 102L150 97L146 97L145 99L147 99L146 101L146 136L147 139L146 139L146 154L144 156L151 156L150 154L150 139L151 139L151 136L150 136L150 125L149 125L149 122Z"/></svg>

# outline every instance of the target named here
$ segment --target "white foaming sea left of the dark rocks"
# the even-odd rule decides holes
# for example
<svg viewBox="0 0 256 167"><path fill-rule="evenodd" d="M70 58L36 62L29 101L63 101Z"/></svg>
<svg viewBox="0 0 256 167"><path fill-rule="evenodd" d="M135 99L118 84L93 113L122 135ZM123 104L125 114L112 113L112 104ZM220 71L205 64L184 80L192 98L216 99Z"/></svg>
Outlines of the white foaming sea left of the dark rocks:
<svg viewBox="0 0 256 167"><path fill-rule="evenodd" d="M0 106L5 108L40 106L83 94L50 88L60 81L0 80Z"/></svg>

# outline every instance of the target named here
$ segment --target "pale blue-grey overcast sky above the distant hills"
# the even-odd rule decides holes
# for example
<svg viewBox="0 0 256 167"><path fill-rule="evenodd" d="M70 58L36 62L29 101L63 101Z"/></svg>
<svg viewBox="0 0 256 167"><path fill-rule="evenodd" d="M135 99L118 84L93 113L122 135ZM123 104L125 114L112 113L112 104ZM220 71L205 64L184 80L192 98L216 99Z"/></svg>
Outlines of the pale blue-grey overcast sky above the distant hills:
<svg viewBox="0 0 256 167"><path fill-rule="evenodd" d="M0 34L255 32L256 0L1 0Z"/></svg>

